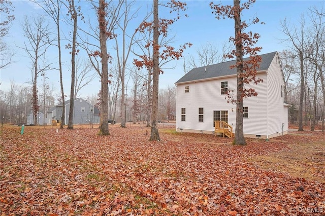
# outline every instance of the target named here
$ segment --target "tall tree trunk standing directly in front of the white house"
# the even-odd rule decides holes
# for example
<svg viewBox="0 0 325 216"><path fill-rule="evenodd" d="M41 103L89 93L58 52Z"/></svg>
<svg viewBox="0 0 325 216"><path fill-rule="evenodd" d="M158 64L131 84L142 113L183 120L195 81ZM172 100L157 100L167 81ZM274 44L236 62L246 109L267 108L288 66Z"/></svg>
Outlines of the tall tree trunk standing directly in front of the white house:
<svg viewBox="0 0 325 216"><path fill-rule="evenodd" d="M243 106L244 100L242 94L244 91L244 82L241 74L243 73L243 45L241 34L241 17L240 17L240 1L234 0L235 11L235 41L236 41L236 65L237 65L237 107L236 107L236 131L235 145L246 145L243 128Z"/></svg>

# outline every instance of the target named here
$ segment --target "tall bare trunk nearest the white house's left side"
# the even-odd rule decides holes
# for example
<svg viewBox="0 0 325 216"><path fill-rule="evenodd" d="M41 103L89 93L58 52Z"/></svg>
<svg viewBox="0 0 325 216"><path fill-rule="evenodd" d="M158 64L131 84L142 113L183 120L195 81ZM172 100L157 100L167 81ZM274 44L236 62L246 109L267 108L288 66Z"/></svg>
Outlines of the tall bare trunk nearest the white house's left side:
<svg viewBox="0 0 325 216"><path fill-rule="evenodd" d="M158 0L153 0L153 83L152 83L152 114L151 134L149 140L160 140L157 128L158 116L158 83L159 83L159 19Z"/></svg>

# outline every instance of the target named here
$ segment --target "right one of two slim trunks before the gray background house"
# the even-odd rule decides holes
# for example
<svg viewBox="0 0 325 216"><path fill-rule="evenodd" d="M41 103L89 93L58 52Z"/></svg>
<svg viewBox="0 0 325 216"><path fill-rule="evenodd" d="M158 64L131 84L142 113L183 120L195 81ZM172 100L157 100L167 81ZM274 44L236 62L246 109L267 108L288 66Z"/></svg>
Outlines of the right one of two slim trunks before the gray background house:
<svg viewBox="0 0 325 216"><path fill-rule="evenodd" d="M73 36L72 36L72 53L71 53L71 90L70 90L70 109L68 129L73 129L73 111L74 111L74 92L75 92L75 73L76 73L76 38L77 38L77 12L75 8L75 1L71 0L71 16L73 18ZM64 98L63 98L64 100ZM64 109L64 107L63 107Z"/></svg>

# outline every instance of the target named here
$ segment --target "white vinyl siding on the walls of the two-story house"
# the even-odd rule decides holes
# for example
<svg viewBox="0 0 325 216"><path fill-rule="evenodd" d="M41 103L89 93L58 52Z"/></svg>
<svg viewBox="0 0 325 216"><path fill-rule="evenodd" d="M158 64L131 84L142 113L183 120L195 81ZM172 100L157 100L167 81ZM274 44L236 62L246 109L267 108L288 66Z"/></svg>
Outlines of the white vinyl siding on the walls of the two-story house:
<svg viewBox="0 0 325 216"><path fill-rule="evenodd" d="M284 83L282 71L276 58L277 55L267 71L257 73L256 77L262 78L263 83L245 85L247 89L254 88L257 96L244 98L244 107L247 107L247 118L243 118L244 134L269 136L282 133L282 123L284 123L283 130L288 130L288 109L283 106L283 93L281 97L281 86ZM214 111L227 111L228 124L233 127L233 132L235 132L236 104L228 103L225 95L220 94L221 82L227 82L228 90L233 91L236 96L236 76L177 84L177 130L182 128L212 133L214 132ZM185 86L189 86L191 89L190 94L184 92ZM182 107L186 108L188 116L186 122L181 121ZM198 124L199 107L204 107L204 122L200 122L200 124Z"/></svg>

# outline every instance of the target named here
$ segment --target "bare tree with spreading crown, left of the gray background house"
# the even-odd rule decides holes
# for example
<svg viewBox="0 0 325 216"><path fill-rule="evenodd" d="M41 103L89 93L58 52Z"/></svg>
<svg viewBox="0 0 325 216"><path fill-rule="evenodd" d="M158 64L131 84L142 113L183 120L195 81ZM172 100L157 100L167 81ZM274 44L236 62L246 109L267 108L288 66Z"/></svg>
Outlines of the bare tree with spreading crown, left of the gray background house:
<svg viewBox="0 0 325 216"><path fill-rule="evenodd" d="M39 112L37 78L45 68L49 67L49 65L46 65L40 68L39 59L45 55L47 48L53 41L50 39L51 31L49 24L45 20L42 16L32 17L31 19L25 17L25 22L22 26L27 43L25 42L25 46L20 48L26 51L32 61L32 110L34 124L38 124L37 114Z"/></svg>

